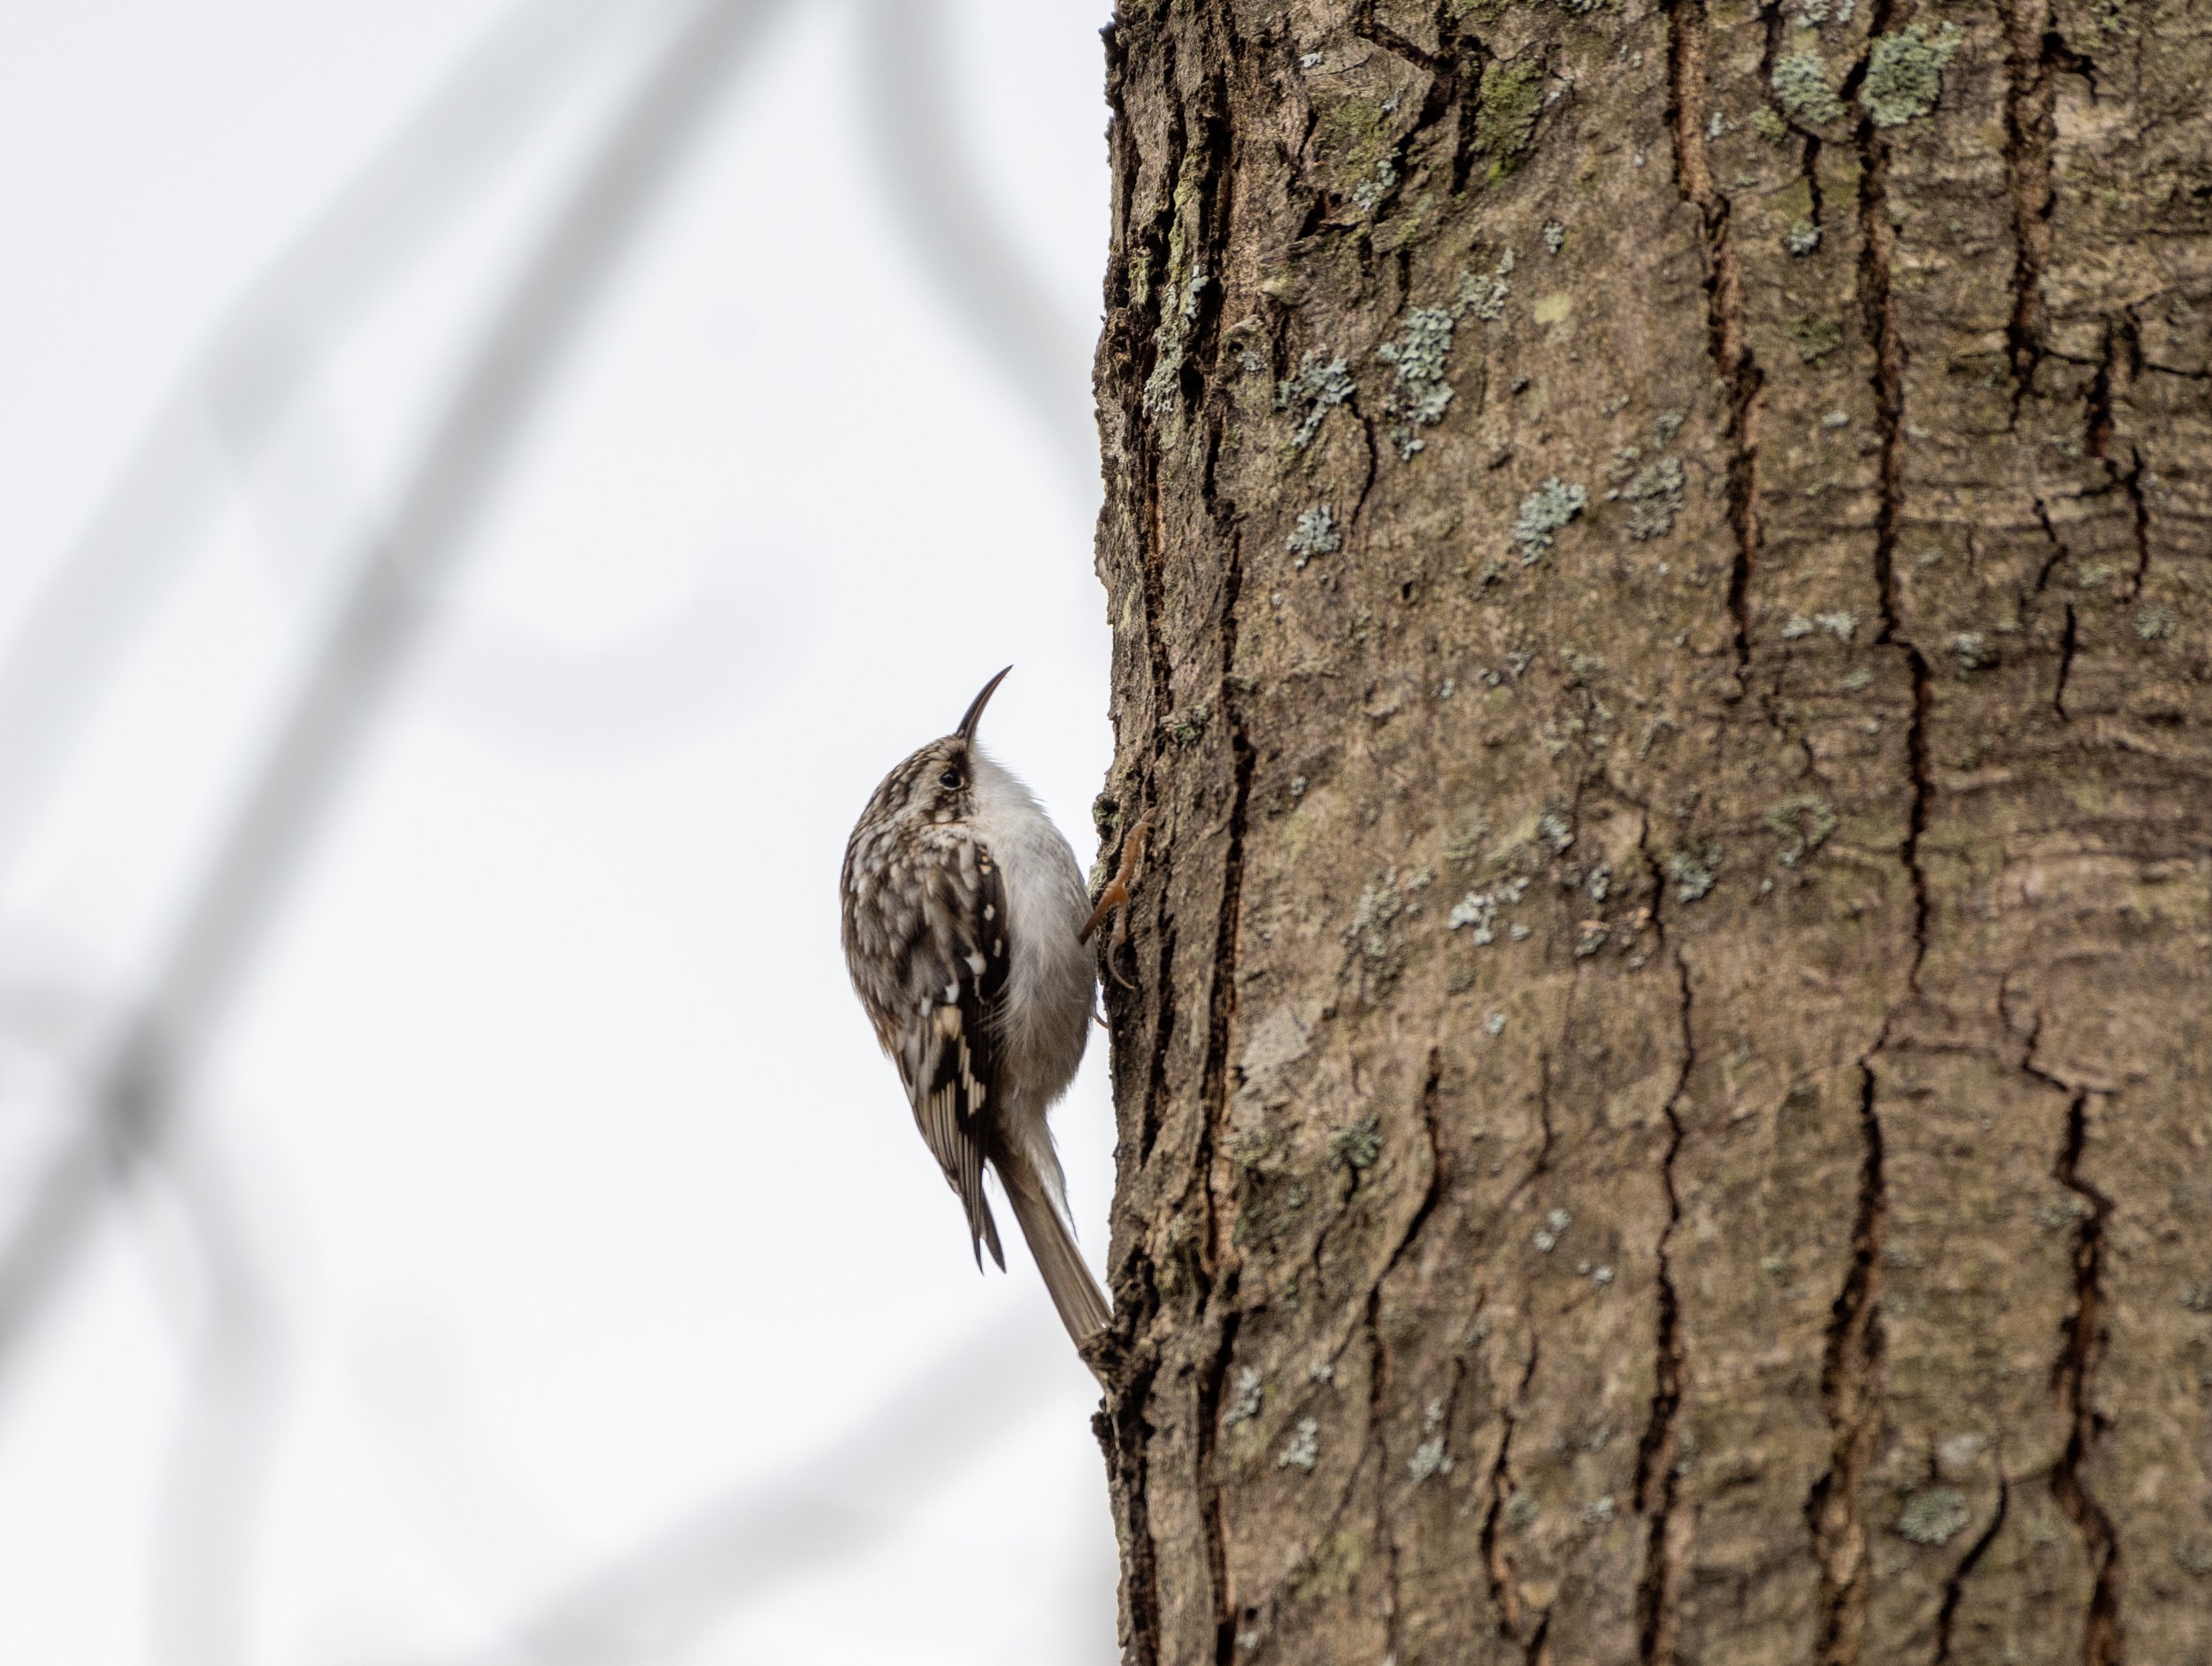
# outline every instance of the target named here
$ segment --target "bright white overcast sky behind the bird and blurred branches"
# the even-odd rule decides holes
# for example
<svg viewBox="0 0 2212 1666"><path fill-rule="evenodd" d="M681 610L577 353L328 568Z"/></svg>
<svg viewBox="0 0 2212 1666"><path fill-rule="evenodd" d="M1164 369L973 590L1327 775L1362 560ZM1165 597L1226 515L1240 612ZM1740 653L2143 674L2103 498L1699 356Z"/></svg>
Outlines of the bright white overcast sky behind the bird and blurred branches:
<svg viewBox="0 0 2212 1666"><path fill-rule="evenodd" d="M785 11L560 358L188 1093L179 1162L268 1321L237 1392L192 1394L210 1303L159 1173L0 1365L0 1659L1115 1655L1095 1389L1026 1257L975 1277L836 945L869 788L1006 662L984 741L1093 854L1106 4L945 7L958 150L1057 319L1051 418L887 212L867 7ZM0 1235L675 9L628 13L307 343L259 458L201 425L212 516L155 522L170 582L7 805ZM0 7L0 639L210 332L509 15ZM1097 1033L1055 1117L1095 1263L1104 1075ZM526 1631L562 1613L571 1646ZM573 1646L608 1615L666 1624Z"/></svg>

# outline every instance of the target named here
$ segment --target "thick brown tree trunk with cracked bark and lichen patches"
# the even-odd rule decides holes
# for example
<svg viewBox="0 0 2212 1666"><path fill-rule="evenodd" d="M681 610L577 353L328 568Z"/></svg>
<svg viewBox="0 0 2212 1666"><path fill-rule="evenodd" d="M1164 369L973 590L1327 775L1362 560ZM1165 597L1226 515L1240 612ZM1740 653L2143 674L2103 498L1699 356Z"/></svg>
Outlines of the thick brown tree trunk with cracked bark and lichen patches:
<svg viewBox="0 0 2212 1666"><path fill-rule="evenodd" d="M1128 1659L2212 1657L2212 4L1108 75Z"/></svg>

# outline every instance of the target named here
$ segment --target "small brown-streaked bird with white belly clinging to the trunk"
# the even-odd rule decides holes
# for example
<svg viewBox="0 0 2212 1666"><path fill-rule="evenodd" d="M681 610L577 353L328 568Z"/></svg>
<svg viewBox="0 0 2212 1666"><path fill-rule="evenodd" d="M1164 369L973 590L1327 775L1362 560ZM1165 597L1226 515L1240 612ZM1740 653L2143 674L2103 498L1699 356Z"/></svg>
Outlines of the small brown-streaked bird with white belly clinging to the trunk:
<svg viewBox="0 0 2212 1666"><path fill-rule="evenodd" d="M1013 670L1013 666L1006 666ZM982 1195L991 1164L1077 1345L1108 1319L1075 1248L1044 1113L1091 1033L1091 898L1075 852L1018 779L975 746L975 719L876 788L845 843L845 967L898 1064L929 1153L967 1208L975 1266L1000 1268Z"/></svg>

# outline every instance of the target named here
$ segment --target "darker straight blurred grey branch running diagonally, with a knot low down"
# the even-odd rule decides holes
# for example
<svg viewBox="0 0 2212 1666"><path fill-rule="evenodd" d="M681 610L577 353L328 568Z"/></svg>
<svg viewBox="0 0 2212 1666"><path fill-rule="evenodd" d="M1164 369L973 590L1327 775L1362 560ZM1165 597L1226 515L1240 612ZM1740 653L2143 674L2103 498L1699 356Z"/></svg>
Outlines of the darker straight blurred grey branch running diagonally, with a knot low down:
<svg viewBox="0 0 2212 1666"><path fill-rule="evenodd" d="M352 589L296 701L217 839L144 1000L97 1069L93 1115L0 1246L0 1370L77 1259L108 1170L161 1135L181 1073L250 969L560 350L706 124L741 49L781 9L783 0L692 4L524 261L498 323L429 427L398 509L354 562Z"/></svg>

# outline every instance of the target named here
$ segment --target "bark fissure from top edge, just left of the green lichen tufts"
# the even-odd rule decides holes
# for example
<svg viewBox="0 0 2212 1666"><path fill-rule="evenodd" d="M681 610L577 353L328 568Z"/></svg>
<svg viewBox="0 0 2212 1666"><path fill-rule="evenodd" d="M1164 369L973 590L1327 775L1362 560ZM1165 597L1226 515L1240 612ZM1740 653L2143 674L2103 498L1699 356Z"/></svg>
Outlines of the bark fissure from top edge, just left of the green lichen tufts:
<svg viewBox="0 0 2212 1666"><path fill-rule="evenodd" d="M1728 613L1734 622L1736 673L1752 664L1750 586L1759 564L1759 367L1743 327L1743 263L1728 232L1730 201L1712 184L1705 157L1710 88L1705 82L1705 0L1668 7L1668 128L1674 146L1674 186L1697 210L1705 257L1705 345L1728 389L1728 522L1734 558L1728 571Z"/></svg>

